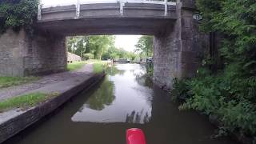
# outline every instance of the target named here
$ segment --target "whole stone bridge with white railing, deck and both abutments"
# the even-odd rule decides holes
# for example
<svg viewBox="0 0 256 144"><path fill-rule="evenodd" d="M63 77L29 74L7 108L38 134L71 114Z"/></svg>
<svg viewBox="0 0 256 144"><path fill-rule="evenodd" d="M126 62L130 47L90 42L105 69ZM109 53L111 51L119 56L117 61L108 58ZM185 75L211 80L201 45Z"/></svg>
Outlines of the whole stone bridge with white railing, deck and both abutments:
<svg viewBox="0 0 256 144"><path fill-rule="evenodd" d="M154 35L154 82L165 89L173 78L195 74L208 36L198 32L194 0L121 0L39 6L34 34L7 30L0 36L0 75L24 76L66 70L66 36Z"/></svg>

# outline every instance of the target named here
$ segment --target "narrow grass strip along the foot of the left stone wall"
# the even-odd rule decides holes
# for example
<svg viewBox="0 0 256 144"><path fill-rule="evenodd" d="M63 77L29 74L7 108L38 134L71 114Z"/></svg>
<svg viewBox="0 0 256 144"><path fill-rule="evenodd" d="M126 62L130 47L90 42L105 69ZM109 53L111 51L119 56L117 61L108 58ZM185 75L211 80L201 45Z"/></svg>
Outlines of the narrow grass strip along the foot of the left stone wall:
<svg viewBox="0 0 256 144"><path fill-rule="evenodd" d="M0 88L17 86L38 80L38 77L0 77Z"/></svg>

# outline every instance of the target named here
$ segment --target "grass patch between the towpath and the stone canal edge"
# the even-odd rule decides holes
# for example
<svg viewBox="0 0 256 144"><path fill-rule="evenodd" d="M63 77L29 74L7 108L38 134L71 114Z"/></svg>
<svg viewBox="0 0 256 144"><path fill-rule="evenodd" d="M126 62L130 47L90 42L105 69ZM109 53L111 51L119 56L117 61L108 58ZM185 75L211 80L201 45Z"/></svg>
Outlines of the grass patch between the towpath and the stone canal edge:
<svg viewBox="0 0 256 144"><path fill-rule="evenodd" d="M14 108L27 109L33 106L37 106L39 103L45 102L47 99L53 98L57 95L58 94L33 93L25 94L15 98L9 98L0 102L0 112L12 110Z"/></svg>

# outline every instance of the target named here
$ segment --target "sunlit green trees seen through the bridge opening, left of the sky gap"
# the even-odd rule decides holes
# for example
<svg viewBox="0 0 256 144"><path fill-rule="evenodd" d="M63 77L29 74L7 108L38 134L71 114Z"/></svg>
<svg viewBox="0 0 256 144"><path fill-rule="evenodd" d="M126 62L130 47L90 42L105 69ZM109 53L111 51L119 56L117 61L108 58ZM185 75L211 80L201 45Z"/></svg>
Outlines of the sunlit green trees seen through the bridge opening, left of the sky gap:
<svg viewBox="0 0 256 144"><path fill-rule="evenodd" d="M80 55L82 58L130 58L134 60L136 54L114 46L114 36L94 35L68 37L67 50L70 53Z"/></svg>

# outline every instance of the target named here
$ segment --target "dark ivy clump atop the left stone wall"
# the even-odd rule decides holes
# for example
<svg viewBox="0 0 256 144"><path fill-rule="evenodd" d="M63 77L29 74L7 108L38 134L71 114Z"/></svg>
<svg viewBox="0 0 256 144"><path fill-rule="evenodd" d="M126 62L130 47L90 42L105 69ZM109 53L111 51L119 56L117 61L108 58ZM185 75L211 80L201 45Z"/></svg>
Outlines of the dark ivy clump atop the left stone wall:
<svg viewBox="0 0 256 144"><path fill-rule="evenodd" d="M32 30L38 13L38 0L1 0L0 34L11 28Z"/></svg>

